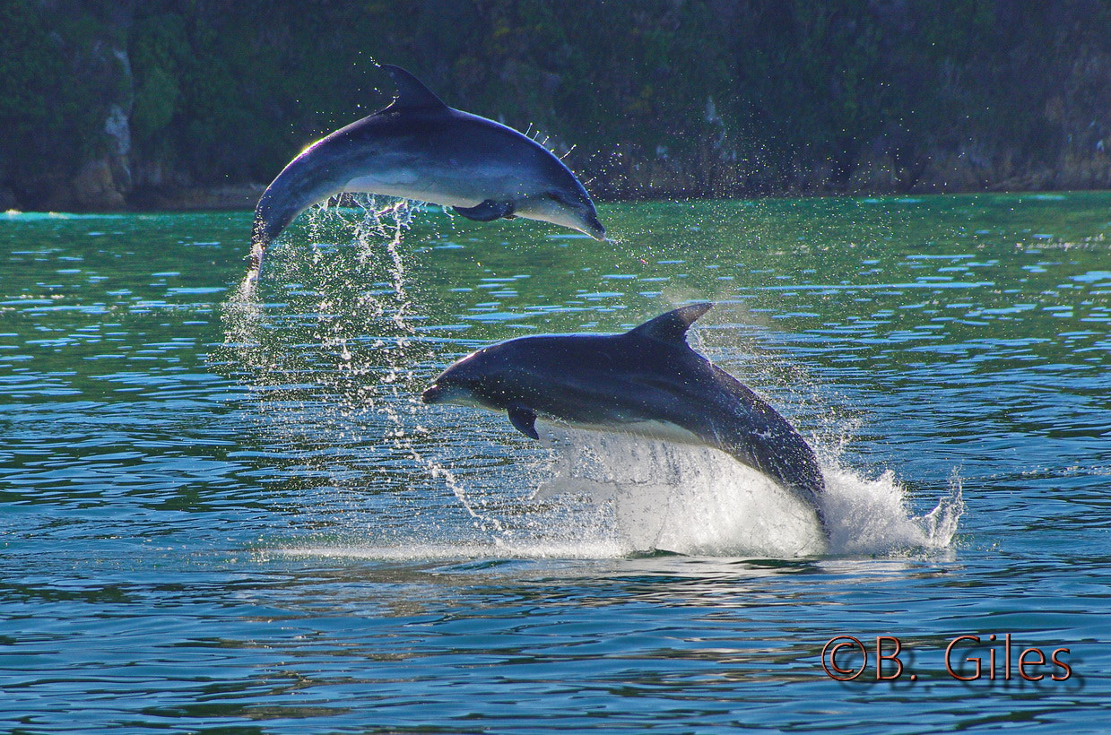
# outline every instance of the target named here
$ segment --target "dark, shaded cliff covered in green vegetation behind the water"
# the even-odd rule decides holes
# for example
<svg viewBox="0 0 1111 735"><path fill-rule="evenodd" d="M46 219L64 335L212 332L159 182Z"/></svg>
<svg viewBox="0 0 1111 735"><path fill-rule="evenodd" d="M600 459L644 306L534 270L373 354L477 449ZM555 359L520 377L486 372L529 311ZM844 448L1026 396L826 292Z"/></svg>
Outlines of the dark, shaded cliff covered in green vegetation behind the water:
<svg viewBox="0 0 1111 735"><path fill-rule="evenodd" d="M603 197L1111 187L1108 0L0 3L0 204L264 184L376 62Z"/></svg>

